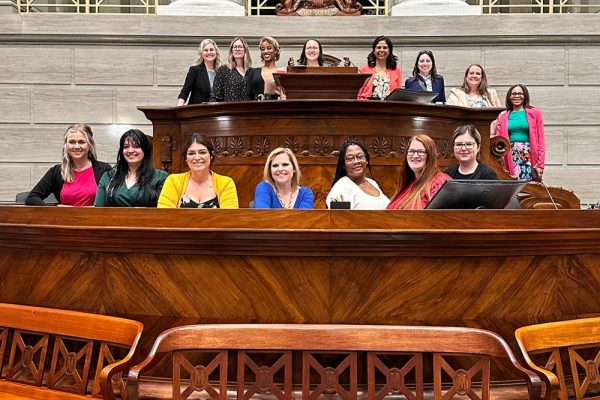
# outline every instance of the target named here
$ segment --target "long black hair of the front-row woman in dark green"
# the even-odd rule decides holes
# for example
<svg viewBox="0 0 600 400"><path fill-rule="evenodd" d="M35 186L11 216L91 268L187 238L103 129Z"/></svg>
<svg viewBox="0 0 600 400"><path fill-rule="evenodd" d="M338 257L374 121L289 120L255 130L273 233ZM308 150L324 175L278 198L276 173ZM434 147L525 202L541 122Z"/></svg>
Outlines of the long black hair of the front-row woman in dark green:
<svg viewBox="0 0 600 400"><path fill-rule="evenodd" d="M114 175L111 178L108 187L106 188L107 205L114 204L114 198L118 188L125 183L125 178L129 173L129 164L125 156L123 156L123 149L125 144L131 142L144 152L144 158L142 164L139 166L136 175L138 180L139 192L138 196L144 195L150 198L150 202L156 206L158 201L158 191L152 185L152 179L154 178L154 167L152 166L152 144L144 132L139 129L130 129L125 132L119 140L119 152L117 153L117 165L113 168Z"/></svg>

